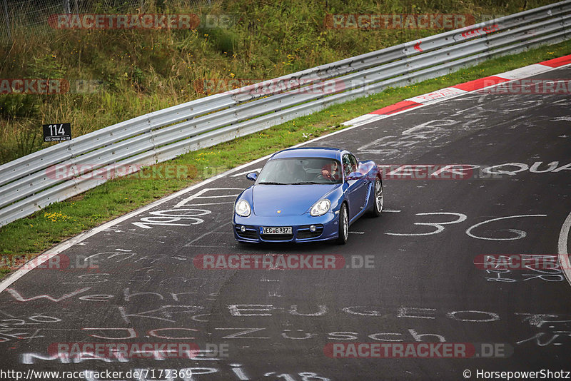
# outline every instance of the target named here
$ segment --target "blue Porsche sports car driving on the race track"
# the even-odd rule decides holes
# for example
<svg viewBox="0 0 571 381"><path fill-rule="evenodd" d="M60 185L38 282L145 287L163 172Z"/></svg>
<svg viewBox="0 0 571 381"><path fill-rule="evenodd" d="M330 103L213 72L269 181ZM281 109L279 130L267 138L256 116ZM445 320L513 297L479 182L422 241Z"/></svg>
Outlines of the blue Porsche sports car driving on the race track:
<svg viewBox="0 0 571 381"><path fill-rule="evenodd" d="M248 173L256 183L236 198L233 230L244 243L347 242L349 225L383 210L383 183L373 161L337 148L289 148Z"/></svg>

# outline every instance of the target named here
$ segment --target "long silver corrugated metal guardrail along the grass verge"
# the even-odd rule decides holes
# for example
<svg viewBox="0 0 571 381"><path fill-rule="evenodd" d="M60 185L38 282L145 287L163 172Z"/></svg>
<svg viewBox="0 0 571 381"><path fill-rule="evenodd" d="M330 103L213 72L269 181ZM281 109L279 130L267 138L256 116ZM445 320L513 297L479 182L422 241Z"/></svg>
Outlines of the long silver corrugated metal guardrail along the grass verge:
<svg viewBox="0 0 571 381"><path fill-rule="evenodd" d="M335 103L571 39L571 0L512 14L148 113L0 166L0 226L133 171L230 141ZM285 91L284 91L285 88ZM310 89L322 88L323 91ZM325 90L328 89L328 90ZM90 165L61 179L54 166ZM95 165L94 165L95 164Z"/></svg>

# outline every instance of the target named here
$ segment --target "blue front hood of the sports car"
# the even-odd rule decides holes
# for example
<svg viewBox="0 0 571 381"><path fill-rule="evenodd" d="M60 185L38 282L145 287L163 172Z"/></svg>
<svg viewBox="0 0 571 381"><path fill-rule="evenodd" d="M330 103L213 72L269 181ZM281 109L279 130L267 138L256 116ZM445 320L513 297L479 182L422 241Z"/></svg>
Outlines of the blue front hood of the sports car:
<svg viewBox="0 0 571 381"><path fill-rule="evenodd" d="M259 185L252 189L253 213L260 216L302 215L341 184ZM281 213L278 213L281 210Z"/></svg>

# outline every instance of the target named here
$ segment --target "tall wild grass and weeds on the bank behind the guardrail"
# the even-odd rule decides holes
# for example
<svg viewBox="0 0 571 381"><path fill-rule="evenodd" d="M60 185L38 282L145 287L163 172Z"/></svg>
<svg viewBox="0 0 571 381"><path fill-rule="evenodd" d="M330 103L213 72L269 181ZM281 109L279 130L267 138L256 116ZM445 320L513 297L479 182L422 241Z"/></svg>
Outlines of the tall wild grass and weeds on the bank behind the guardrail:
<svg viewBox="0 0 571 381"><path fill-rule="evenodd" d="M0 46L0 78L80 79L92 81L93 92L0 96L0 163L54 144L42 141L44 123L69 122L73 136L80 136L205 96L195 81L275 78L443 31L327 29L326 14L459 13L474 14L479 21L480 14L511 14L548 3L225 0L196 9L183 0L158 1L146 13L226 14L234 22L227 29L54 30L43 35L17 29L12 41Z"/></svg>

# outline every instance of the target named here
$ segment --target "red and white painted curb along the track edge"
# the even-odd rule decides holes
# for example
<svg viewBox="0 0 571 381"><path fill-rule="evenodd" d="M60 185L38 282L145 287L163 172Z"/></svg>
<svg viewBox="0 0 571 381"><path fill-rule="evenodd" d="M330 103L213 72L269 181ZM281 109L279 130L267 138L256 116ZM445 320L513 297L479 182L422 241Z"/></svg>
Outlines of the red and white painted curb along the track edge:
<svg viewBox="0 0 571 381"><path fill-rule="evenodd" d="M432 93L414 96L413 98L408 98L393 105L380 108L379 110L372 111L363 116L358 116L357 118L351 119L350 121L346 121L341 124L343 126L357 126L364 123L378 121L393 115L394 113L410 110L411 108L425 106L430 103L437 103L450 98L455 98L465 93L471 93L473 91L481 90L482 88L495 86L498 83L521 80L523 78L535 76L536 74L550 71L554 68L569 64L571 64L571 55L562 56L557 59L550 59L548 61L540 62L539 64L524 66L522 68L516 68L515 70L506 71L505 73L496 74L495 76L487 76L484 78L475 79L474 81L460 83L452 87L441 88L440 90L433 91Z"/></svg>

